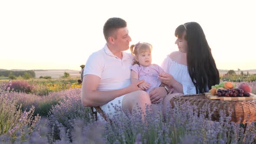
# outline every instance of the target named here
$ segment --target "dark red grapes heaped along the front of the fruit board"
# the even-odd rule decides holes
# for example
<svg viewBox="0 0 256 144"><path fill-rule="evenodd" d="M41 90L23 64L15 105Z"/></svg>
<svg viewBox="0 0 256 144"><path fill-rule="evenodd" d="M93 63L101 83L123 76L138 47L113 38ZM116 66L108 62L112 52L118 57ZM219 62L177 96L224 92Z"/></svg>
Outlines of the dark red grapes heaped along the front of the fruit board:
<svg viewBox="0 0 256 144"><path fill-rule="evenodd" d="M240 88L232 88L232 89L218 89L217 95L220 97L249 97L250 93L243 92L243 89Z"/></svg>

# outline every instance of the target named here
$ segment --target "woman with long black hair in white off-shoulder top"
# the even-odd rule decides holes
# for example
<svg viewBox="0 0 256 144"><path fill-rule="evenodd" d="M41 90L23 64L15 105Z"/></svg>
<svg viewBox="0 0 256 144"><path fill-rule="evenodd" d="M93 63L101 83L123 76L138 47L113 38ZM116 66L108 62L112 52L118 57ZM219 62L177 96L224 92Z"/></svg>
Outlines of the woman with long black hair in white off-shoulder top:
<svg viewBox="0 0 256 144"><path fill-rule="evenodd" d="M212 85L219 84L219 72L201 26L196 22L184 23L177 27L175 36L179 51L164 60L162 67L168 73L159 75L161 82L184 95L208 92ZM160 96L163 93L163 88L154 89L151 100L164 98ZM164 98L164 110L175 95L178 94Z"/></svg>

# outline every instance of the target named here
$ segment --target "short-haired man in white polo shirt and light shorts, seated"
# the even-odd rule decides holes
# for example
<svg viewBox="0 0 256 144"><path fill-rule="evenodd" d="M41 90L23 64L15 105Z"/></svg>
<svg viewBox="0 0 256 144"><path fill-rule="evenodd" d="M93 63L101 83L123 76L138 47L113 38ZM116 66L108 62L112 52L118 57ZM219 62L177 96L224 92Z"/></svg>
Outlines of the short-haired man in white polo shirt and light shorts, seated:
<svg viewBox="0 0 256 144"><path fill-rule="evenodd" d="M138 104L145 113L146 105L151 105L150 97L138 88L143 81L131 84L133 57L124 52L131 42L127 23L121 18L110 18L103 27L103 33L107 43L103 49L92 53L85 65L82 104L101 106L106 114L114 114L111 104L123 111L131 111Z"/></svg>

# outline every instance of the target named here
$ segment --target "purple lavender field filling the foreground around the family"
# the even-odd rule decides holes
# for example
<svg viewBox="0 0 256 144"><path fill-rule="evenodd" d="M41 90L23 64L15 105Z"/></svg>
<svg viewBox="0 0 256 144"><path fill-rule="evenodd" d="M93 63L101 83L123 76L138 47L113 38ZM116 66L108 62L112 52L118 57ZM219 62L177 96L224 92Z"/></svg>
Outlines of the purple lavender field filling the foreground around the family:
<svg viewBox="0 0 256 144"><path fill-rule="evenodd" d="M256 93L256 82L247 82ZM237 83L239 84L239 83ZM116 108L117 110L120 110ZM198 113L200 115L198 115ZM207 107L185 104L168 108L163 115L148 108L113 114L112 123L95 121L90 108L81 104L81 88L39 96L7 92L0 88L0 143L23 144L251 144L256 142L256 125L235 124L231 114L220 112L220 121L206 116ZM40 114L40 115L39 115ZM43 116L41 118L41 115Z"/></svg>

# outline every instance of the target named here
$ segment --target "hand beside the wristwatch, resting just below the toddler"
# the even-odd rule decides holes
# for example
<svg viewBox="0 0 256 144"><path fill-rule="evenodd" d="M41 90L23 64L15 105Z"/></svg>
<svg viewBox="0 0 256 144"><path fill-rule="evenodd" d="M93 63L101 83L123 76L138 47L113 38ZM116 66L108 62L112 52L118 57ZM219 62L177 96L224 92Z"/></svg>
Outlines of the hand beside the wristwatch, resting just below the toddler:
<svg viewBox="0 0 256 144"><path fill-rule="evenodd" d="M167 95L167 92L164 87L155 87L152 88L149 92L150 100L152 104L158 104L163 101L164 97Z"/></svg>

